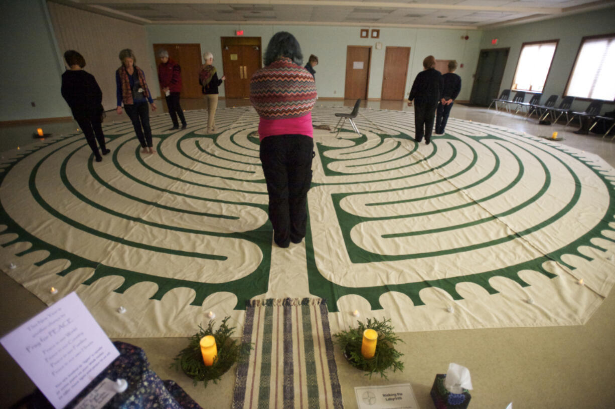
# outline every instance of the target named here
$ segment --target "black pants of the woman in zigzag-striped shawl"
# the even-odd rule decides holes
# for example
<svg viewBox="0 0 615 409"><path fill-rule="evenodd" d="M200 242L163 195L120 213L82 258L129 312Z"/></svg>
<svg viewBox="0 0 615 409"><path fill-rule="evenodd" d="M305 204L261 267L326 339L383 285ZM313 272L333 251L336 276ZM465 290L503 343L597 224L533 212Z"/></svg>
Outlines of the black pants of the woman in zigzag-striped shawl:
<svg viewBox="0 0 615 409"><path fill-rule="evenodd" d="M269 193L274 241L287 247L306 235L314 141L306 135L274 135L261 141L260 157Z"/></svg>

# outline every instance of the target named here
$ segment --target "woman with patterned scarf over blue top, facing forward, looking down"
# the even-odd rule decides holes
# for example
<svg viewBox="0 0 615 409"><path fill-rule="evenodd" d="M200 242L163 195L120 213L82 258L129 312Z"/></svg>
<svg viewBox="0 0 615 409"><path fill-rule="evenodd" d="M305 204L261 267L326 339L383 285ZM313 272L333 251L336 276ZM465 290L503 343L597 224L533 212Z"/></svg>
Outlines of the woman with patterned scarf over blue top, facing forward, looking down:
<svg viewBox="0 0 615 409"><path fill-rule="evenodd" d="M122 103L124 103L126 114L132 121L137 139L143 147L141 152L146 154L149 150L149 153L153 154L148 101L151 104L152 112L156 111L156 104L154 104L154 99L149 93L143 70L135 65L137 58L135 58L132 50L124 49L119 52L119 60L122 61L122 66L116 71L117 115L122 114Z"/></svg>

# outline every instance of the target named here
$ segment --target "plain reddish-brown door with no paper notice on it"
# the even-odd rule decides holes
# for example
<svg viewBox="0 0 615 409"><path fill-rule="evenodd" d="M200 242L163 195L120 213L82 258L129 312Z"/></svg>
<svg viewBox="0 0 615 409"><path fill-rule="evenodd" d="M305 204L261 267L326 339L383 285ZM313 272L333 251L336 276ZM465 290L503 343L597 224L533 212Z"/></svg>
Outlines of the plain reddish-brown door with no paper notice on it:
<svg viewBox="0 0 615 409"><path fill-rule="evenodd" d="M410 47L386 47L380 99L404 99L409 61Z"/></svg>

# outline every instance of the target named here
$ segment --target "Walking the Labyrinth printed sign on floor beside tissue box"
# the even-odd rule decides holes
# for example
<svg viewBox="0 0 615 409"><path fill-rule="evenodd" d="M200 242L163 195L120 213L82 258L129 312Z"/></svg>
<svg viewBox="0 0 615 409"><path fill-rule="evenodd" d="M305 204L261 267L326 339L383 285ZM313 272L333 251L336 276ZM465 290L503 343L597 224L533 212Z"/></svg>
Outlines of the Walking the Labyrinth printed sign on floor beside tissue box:
<svg viewBox="0 0 615 409"><path fill-rule="evenodd" d="M418 409L409 383L354 388L359 409Z"/></svg>

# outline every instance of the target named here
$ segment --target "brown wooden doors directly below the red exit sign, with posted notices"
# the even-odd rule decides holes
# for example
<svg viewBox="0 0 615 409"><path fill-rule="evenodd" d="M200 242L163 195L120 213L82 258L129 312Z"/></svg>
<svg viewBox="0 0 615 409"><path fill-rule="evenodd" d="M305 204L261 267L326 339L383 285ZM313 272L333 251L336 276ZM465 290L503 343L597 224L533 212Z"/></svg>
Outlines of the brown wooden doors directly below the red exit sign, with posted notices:
<svg viewBox="0 0 615 409"><path fill-rule="evenodd" d="M261 37L221 37L226 98L250 98L250 78L261 68Z"/></svg>

